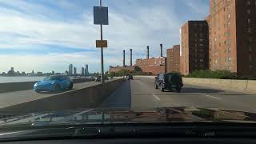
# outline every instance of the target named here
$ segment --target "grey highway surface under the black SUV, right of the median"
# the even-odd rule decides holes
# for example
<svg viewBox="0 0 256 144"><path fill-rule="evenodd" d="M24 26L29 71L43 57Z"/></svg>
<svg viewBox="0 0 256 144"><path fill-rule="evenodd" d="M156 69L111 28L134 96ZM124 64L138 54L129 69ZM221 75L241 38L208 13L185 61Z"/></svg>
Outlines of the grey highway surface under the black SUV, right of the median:
<svg viewBox="0 0 256 144"><path fill-rule="evenodd" d="M194 106L256 112L256 95L186 85L181 93L154 89L154 79L134 78L118 87L101 107L154 110L156 107Z"/></svg>

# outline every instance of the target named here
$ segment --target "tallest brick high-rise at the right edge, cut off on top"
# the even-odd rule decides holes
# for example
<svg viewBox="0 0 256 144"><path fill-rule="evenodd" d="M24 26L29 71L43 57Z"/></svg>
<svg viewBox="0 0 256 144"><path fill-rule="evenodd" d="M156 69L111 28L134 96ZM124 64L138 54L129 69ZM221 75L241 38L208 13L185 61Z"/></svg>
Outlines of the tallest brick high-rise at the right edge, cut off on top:
<svg viewBox="0 0 256 144"><path fill-rule="evenodd" d="M210 0L210 70L256 75L255 0Z"/></svg>

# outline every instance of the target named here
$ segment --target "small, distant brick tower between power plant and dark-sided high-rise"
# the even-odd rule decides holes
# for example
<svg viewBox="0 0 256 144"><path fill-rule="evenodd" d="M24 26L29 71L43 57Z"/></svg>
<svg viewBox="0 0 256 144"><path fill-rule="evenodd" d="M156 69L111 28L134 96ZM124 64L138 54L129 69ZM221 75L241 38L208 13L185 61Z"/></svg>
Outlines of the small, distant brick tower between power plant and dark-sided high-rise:
<svg viewBox="0 0 256 144"><path fill-rule="evenodd" d="M180 46L166 50L166 72L180 72Z"/></svg>

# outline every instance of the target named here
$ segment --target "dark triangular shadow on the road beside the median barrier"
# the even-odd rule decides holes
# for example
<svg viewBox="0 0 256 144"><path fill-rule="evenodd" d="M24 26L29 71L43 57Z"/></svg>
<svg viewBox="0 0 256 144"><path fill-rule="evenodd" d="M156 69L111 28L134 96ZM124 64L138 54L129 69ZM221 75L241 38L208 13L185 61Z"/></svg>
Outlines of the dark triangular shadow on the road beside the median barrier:
<svg viewBox="0 0 256 144"><path fill-rule="evenodd" d="M102 108L127 108L131 107L131 89L130 82L126 80L117 90L114 90L108 98L102 102Z"/></svg>

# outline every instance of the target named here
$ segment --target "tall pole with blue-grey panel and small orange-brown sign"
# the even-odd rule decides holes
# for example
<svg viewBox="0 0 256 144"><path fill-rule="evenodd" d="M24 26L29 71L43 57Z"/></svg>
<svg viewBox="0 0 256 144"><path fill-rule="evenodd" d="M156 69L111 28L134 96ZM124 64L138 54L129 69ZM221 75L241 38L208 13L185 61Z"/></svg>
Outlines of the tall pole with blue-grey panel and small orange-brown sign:
<svg viewBox="0 0 256 144"><path fill-rule="evenodd" d="M107 47L107 41L103 40L102 25L108 25L108 24L109 24L108 7L103 7L102 0L99 0L99 6L94 6L94 25L101 26L101 40L96 41L96 47L101 48L102 83L105 82L103 47Z"/></svg>

